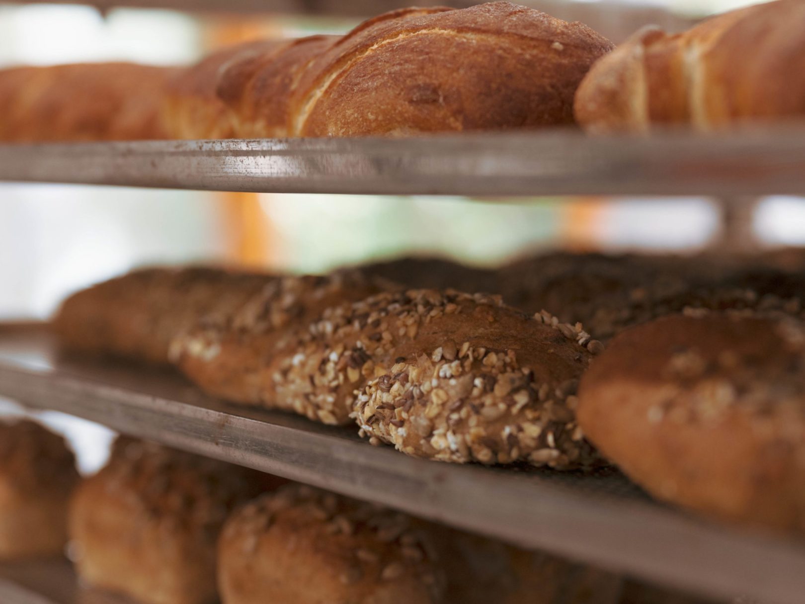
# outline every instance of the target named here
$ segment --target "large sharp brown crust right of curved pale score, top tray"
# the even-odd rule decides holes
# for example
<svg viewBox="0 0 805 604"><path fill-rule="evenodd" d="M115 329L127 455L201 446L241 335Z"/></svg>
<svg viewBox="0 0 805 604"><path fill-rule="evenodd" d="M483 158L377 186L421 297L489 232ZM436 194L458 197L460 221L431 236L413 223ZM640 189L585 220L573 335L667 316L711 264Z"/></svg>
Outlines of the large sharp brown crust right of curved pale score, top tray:
<svg viewBox="0 0 805 604"><path fill-rule="evenodd" d="M508 2L386 17L346 35L308 68L291 99L292 134L572 123L576 87L613 48L580 23Z"/></svg>

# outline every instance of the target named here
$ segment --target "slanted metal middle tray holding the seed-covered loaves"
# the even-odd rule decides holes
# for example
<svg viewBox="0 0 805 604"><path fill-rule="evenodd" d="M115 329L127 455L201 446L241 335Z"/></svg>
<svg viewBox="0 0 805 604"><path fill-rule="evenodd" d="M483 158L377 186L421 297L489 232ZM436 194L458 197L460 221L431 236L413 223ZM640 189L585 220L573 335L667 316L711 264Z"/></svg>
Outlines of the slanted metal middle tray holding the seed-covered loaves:
<svg viewBox="0 0 805 604"><path fill-rule="evenodd" d="M167 370L67 358L42 325L0 327L0 395L679 589L764 604L805 593L801 541L692 518L620 474L407 457L349 428L209 399Z"/></svg>

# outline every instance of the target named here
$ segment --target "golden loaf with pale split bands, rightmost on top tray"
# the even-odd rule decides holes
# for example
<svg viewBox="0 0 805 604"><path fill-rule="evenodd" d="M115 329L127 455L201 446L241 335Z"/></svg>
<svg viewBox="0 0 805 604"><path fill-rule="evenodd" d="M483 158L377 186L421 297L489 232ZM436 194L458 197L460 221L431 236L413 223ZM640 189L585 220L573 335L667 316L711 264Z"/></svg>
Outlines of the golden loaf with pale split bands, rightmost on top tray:
<svg viewBox="0 0 805 604"><path fill-rule="evenodd" d="M591 132L805 117L805 4L777 0L720 14L683 34L638 31L576 92Z"/></svg>

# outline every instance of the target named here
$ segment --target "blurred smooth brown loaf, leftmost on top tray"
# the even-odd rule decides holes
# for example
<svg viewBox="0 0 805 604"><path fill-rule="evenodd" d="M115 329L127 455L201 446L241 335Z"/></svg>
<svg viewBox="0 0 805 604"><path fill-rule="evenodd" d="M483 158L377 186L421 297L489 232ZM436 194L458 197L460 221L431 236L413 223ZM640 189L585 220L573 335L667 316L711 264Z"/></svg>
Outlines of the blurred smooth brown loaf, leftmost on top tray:
<svg viewBox="0 0 805 604"><path fill-rule="evenodd" d="M0 70L0 141L164 139L172 68L129 63Z"/></svg>

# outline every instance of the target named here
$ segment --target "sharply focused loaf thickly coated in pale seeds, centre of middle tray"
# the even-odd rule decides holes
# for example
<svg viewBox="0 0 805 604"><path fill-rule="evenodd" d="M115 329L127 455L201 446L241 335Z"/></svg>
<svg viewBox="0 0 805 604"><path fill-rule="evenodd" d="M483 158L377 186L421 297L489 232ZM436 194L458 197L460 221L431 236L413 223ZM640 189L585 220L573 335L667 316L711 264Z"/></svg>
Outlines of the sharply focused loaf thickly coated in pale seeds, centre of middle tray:
<svg viewBox="0 0 805 604"><path fill-rule="evenodd" d="M277 395L352 409L371 442L418 457L594 465L573 395L600 348L492 296L388 292L324 312L288 349Z"/></svg>

